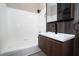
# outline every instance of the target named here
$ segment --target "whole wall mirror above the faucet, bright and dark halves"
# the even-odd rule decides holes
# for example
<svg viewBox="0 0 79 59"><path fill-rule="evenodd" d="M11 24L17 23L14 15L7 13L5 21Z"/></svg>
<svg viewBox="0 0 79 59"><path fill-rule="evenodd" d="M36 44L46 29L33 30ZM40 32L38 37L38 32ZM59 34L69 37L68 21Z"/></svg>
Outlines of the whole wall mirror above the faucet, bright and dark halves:
<svg viewBox="0 0 79 59"><path fill-rule="evenodd" d="M71 21L73 18L73 3L47 3L47 23L55 21Z"/></svg>

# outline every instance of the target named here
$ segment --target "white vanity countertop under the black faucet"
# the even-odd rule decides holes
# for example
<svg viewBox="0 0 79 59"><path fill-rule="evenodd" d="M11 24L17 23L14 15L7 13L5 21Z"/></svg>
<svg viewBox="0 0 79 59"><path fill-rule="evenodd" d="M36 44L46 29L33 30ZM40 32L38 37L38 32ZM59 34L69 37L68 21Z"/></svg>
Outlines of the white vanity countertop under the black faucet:
<svg viewBox="0 0 79 59"><path fill-rule="evenodd" d="M49 38L53 38L53 39L61 41L61 42L65 42L67 40L75 38L74 34L65 34L65 33L55 34L55 32L42 32L42 33L39 33L39 34L46 36L46 37L49 37Z"/></svg>

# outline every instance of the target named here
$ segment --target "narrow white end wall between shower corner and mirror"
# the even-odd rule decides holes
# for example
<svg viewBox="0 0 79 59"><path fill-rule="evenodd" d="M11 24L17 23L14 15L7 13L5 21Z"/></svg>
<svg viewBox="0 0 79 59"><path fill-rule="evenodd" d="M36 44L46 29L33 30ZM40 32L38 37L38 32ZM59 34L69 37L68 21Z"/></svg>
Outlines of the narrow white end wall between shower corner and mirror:
<svg viewBox="0 0 79 59"><path fill-rule="evenodd" d="M46 32L46 8L42 9L39 14L38 31Z"/></svg>

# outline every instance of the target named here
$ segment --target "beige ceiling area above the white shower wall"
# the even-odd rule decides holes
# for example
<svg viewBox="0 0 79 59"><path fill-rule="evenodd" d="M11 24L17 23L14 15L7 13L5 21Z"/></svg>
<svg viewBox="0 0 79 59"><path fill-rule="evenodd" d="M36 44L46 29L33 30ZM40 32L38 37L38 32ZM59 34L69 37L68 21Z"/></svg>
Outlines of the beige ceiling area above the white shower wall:
<svg viewBox="0 0 79 59"><path fill-rule="evenodd" d="M6 3L7 7L37 13L37 9L45 8L45 3Z"/></svg>

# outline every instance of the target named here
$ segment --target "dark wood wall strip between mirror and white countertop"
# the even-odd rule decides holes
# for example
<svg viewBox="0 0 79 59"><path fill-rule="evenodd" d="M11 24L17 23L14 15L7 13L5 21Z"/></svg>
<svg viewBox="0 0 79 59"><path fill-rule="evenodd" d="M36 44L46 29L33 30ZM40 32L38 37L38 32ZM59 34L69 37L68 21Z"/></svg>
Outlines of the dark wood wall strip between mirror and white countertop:
<svg viewBox="0 0 79 59"><path fill-rule="evenodd" d="M73 21L57 23L57 32L59 33L73 34L73 29ZM55 32L55 23L47 23L47 31Z"/></svg>

